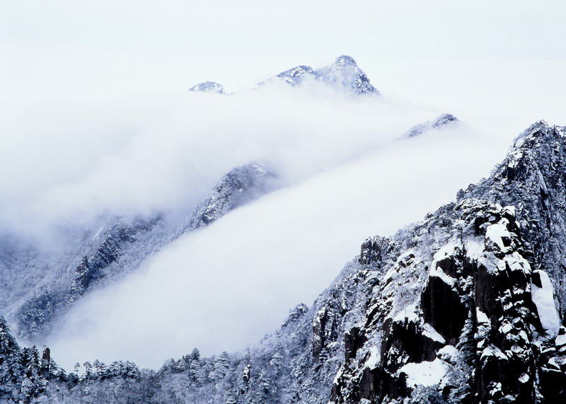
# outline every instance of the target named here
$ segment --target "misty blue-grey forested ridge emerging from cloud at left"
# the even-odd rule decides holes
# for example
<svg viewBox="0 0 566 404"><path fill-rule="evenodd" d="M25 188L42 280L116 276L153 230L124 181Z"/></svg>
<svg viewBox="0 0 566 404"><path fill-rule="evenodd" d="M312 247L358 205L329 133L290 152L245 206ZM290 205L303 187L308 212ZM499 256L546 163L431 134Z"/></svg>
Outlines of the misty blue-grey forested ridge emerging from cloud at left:
<svg viewBox="0 0 566 404"><path fill-rule="evenodd" d="M4 259L0 265L6 277L13 274L13 279L2 284L2 294L8 298L0 310L13 319L18 337L44 337L51 332L53 321L81 296L136 270L149 255L183 233L207 226L274 190L276 180L275 173L259 163L233 168L176 226L163 213L149 218L102 218L99 229L84 229L76 235L74 246L54 258L8 233L4 238L10 242L1 246ZM27 282L20 279L21 274L28 275ZM15 292L21 295L10 296Z"/></svg>

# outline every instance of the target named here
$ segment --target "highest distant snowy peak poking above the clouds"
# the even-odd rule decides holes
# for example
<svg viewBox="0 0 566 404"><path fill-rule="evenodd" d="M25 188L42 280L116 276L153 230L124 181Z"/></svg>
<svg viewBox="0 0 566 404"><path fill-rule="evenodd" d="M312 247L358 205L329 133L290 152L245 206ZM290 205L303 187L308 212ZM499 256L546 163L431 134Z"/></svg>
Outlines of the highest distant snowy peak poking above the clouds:
<svg viewBox="0 0 566 404"><path fill-rule="evenodd" d="M301 65L283 71L277 74L277 77L290 86L298 86L309 78L356 95L380 95L379 91L369 82L364 71L359 69L354 58L345 55L337 57L334 63L327 67L315 70L310 66Z"/></svg>

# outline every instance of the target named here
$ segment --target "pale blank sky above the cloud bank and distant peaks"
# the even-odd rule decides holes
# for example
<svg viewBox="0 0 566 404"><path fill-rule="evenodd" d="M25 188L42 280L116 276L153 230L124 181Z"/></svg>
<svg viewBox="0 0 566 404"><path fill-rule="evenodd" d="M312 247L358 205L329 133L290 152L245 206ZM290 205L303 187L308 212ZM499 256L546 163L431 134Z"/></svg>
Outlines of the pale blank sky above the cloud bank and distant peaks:
<svg viewBox="0 0 566 404"><path fill-rule="evenodd" d="M340 54L378 88L410 97L420 89L403 83L437 80L446 59L454 72L468 61L566 58L560 0L1 0L0 9L8 104L185 91L205 80L233 91Z"/></svg>

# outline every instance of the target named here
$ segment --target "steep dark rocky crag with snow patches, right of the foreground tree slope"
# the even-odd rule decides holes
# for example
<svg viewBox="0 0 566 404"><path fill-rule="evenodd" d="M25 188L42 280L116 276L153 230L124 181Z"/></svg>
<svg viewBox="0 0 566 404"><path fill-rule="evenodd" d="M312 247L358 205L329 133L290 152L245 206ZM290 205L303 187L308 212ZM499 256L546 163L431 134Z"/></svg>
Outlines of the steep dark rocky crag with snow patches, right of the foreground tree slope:
<svg viewBox="0 0 566 404"><path fill-rule="evenodd" d="M333 403L566 399L565 151L565 128L538 122L488 180L395 235L392 260L362 244L379 284Z"/></svg>

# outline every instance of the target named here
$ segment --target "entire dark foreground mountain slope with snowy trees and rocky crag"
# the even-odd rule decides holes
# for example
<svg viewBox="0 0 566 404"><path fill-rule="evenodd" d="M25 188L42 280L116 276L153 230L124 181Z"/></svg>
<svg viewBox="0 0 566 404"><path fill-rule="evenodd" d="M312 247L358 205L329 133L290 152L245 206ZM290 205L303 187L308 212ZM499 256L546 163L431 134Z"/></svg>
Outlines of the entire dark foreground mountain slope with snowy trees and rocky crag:
<svg viewBox="0 0 566 404"><path fill-rule="evenodd" d="M4 400L559 403L566 127L536 122L486 180L361 246L311 307L241 354L64 374L1 323Z"/></svg>

